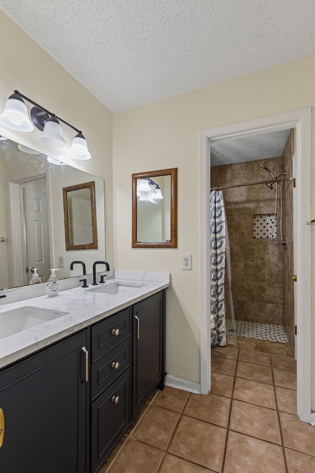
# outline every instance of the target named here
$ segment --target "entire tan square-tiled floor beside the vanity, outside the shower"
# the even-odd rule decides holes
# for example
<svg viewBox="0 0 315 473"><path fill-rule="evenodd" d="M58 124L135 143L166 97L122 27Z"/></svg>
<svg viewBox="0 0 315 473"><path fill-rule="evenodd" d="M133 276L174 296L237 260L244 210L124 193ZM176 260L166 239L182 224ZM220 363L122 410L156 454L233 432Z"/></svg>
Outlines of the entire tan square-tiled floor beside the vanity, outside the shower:
<svg viewBox="0 0 315 473"><path fill-rule="evenodd" d="M293 358L212 348L212 391L158 391L99 473L314 473Z"/></svg>

